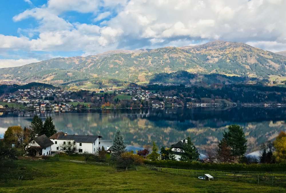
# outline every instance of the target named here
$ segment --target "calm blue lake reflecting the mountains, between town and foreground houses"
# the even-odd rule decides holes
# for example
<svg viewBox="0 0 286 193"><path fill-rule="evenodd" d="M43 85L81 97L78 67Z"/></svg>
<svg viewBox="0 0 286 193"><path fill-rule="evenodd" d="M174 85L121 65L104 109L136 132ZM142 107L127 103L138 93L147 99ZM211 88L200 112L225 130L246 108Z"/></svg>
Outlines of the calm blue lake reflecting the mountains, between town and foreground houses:
<svg viewBox="0 0 286 193"><path fill-rule="evenodd" d="M215 147L230 124L243 127L248 140L247 152L273 140L286 131L286 108L221 107L165 108L133 110L85 110L75 112L4 112L0 116L0 134L9 126L28 126L35 114L43 120L53 118L57 130L68 134L100 135L112 140L117 128L124 134L128 148L139 150L153 141L161 147L190 136L200 153Z"/></svg>

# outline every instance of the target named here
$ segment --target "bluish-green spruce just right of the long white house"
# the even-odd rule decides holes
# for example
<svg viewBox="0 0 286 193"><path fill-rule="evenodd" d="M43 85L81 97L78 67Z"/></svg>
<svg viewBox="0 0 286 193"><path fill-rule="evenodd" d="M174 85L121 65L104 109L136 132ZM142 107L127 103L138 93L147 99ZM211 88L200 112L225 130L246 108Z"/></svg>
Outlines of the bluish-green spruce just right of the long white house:
<svg viewBox="0 0 286 193"><path fill-rule="evenodd" d="M116 134L113 139L113 145L112 145L112 159L116 160L120 157L120 155L125 151L126 145L124 144L124 138L120 131L120 129L117 129Z"/></svg>

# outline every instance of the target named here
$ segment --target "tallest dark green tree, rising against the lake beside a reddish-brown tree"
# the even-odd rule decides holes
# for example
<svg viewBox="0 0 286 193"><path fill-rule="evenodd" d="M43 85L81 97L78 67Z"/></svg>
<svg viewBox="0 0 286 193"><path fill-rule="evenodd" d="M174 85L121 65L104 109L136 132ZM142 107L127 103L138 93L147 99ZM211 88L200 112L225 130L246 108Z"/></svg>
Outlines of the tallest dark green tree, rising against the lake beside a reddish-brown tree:
<svg viewBox="0 0 286 193"><path fill-rule="evenodd" d="M243 129L239 125L230 125L228 131L223 133L223 138L231 149L234 161L237 162L246 153L247 149L247 139Z"/></svg>

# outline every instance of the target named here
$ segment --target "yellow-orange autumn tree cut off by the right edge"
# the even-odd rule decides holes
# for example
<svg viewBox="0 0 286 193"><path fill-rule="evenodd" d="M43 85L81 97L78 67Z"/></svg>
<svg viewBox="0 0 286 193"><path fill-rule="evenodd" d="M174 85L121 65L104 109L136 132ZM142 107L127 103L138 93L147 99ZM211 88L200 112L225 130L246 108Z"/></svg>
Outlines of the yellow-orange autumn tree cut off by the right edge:
<svg viewBox="0 0 286 193"><path fill-rule="evenodd" d="M274 141L274 156L277 162L286 162L286 133L281 131Z"/></svg>

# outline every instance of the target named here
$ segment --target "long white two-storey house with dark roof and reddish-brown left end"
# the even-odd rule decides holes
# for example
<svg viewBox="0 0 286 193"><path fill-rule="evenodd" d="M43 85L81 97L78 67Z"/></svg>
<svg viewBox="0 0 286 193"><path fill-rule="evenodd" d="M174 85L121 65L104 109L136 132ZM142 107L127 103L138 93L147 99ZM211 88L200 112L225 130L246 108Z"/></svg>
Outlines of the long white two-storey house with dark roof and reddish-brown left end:
<svg viewBox="0 0 286 193"><path fill-rule="evenodd" d="M67 132L57 132L49 137L54 143L51 147L51 151L60 151L59 145L72 142L77 145L78 153L89 152L95 154L100 150L100 138L99 135L68 135Z"/></svg>

